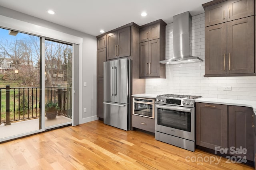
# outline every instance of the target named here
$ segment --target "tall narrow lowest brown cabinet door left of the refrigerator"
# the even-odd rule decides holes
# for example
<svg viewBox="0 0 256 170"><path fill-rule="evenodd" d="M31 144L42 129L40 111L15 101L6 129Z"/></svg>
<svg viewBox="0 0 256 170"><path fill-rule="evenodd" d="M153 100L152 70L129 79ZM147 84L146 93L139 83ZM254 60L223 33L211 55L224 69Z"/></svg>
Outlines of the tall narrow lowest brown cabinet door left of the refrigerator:
<svg viewBox="0 0 256 170"><path fill-rule="evenodd" d="M103 119L103 78L97 78L97 117Z"/></svg>

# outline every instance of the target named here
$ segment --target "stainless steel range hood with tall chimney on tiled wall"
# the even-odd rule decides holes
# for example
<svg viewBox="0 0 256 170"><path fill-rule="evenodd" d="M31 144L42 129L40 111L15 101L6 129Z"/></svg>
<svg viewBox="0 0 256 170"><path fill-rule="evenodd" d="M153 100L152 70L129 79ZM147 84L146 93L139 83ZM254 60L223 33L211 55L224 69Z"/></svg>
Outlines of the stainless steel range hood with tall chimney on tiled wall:
<svg viewBox="0 0 256 170"><path fill-rule="evenodd" d="M184 12L173 16L173 57L160 61L162 64L181 64L202 62L199 57L192 56L192 17Z"/></svg>

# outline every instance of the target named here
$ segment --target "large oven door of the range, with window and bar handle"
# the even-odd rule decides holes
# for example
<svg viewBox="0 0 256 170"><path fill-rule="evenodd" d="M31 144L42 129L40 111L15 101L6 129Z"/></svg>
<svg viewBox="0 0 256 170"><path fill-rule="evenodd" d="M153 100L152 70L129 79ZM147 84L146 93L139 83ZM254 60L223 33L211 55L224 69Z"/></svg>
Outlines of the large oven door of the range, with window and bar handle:
<svg viewBox="0 0 256 170"><path fill-rule="evenodd" d="M156 131L194 141L194 108L156 104Z"/></svg>

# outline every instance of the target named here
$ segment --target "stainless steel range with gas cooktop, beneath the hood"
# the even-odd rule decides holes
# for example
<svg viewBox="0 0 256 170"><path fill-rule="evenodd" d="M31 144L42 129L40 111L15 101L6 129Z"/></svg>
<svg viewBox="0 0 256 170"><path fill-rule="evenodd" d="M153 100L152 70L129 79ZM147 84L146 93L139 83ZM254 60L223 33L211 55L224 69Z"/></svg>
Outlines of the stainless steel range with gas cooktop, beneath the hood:
<svg viewBox="0 0 256 170"><path fill-rule="evenodd" d="M195 151L195 99L164 94L156 97L156 140Z"/></svg>

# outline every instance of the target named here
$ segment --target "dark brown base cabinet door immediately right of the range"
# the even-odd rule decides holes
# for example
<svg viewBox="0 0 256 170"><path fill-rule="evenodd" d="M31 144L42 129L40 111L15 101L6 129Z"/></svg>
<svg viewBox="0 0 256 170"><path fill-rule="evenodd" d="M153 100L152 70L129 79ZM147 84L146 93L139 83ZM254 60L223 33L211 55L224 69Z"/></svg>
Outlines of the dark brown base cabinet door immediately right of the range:
<svg viewBox="0 0 256 170"><path fill-rule="evenodd" d="M196 145L228 148L228 106L196 103Z"/></svg>

